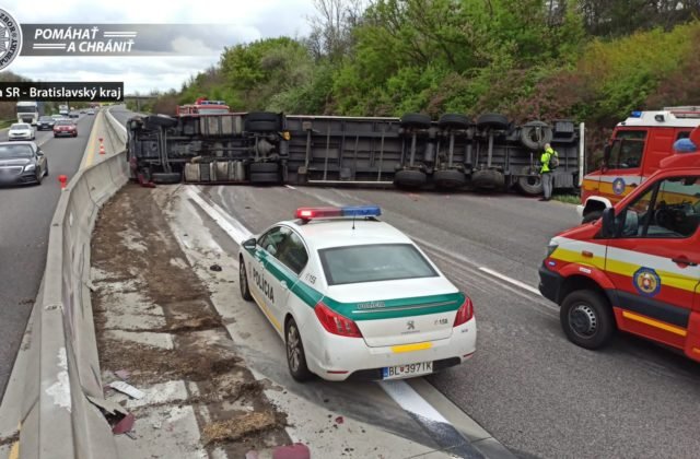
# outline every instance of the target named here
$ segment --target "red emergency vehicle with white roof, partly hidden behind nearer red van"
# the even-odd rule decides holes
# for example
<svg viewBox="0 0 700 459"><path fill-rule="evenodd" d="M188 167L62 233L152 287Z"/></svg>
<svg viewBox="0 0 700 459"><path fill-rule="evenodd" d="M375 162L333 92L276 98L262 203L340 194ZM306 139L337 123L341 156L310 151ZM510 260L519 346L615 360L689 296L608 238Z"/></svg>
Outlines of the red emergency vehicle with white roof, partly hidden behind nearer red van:
<svg viewBox="0 0 700 459"><path fill-rule="evenodd" d="M667 107L663 110L632 111L612 131L605 148L602 167L586 174L581 184L583 223L600 217L649 176L658 170L678 139L700 126L700 107Z"/></svg>

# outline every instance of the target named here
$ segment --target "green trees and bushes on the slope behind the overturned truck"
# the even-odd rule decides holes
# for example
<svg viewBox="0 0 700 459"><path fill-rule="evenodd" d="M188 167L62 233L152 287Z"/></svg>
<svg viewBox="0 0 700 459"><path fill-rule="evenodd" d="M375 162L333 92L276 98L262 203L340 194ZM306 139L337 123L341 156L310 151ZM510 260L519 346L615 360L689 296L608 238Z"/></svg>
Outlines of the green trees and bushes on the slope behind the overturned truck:
<svg viewBox="0 0 700 459"><path fill-rule="evenodd" d="M573 118L593 146L633 109L700 105L700 0L314 0L305 37L226 47L156 113Z"/></svg>

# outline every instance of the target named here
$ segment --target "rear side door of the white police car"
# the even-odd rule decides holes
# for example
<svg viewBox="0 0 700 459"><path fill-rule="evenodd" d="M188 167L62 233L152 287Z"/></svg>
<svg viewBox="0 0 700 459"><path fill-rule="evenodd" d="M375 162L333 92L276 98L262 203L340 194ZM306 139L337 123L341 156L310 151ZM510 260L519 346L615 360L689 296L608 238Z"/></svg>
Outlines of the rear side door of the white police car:
<svg viewBox="0 0 700 459"><path fill-rule="evenodd" d="M268 256L265 260L265 272L275 295L273 298L268 297L269 307L280 323L283 323L287 311L292 307L291 289L299 281L299 274L306 266L308 254L301 237L294 231L282 226L279 234L280 239L275 255Z"/></svg>

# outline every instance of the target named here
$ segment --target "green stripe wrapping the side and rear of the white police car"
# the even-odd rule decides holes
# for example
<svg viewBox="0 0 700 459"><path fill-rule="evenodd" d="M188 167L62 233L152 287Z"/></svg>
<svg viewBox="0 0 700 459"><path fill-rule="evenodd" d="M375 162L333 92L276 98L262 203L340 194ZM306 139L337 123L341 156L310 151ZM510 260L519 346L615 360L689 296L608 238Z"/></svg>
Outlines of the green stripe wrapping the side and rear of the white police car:
<svg viewBox="0 0 700 459"><path fill-rule="evenodd" d="M270 255L265 254L265 269L277 280L287 282L290 292L304 304L316 307L323 301L326 306L352 320L378 320L400 317L423 316L457 310L464 304L465 296L460 292L443 295L416 296L407 298L385 299L383 308L362 309L359 303L341 303L324 296L317 290L300 280L289 268ZM372 301L362 303L373 303ZM422 306L422 308L421 308Z"/></svg>

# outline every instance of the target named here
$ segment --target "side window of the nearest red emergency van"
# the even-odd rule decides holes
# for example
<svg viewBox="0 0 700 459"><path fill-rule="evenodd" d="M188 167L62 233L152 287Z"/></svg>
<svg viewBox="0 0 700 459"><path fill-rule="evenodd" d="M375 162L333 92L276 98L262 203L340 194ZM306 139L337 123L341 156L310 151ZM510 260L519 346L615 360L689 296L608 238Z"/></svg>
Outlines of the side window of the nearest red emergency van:
<svg viewBox="0 0 700 459"><path fill-rule="evenodd" d="M700 177L660 180L617 217L621 237L682 238L700 224Z"/></svg>

